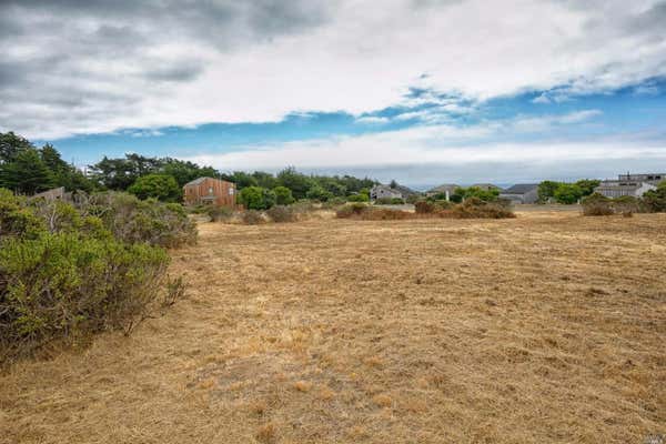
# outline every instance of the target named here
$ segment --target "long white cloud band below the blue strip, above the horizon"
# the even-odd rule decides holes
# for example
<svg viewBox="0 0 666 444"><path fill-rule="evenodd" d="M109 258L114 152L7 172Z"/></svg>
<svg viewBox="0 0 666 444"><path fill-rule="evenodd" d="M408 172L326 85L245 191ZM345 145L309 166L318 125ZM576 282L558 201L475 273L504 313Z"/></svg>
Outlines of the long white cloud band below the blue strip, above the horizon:
<svg viewBox="0 0 666 444"><path fill-rule="evenodd" d="M302 169L370 168L408 165L471 165L480 163L539 164L592 159L632 159L646 157L666 160L666 144L644 141L536 140L534 142L490 142L509 129L511 133L543 130L555 124L582 122L598 114L587 110L561 117L491 122L456 128L425 125L356 137L336 137L287 142L271 147L245 147L239 151L200 154L188 158L222 170L278 170L285 165Z"/></svg>

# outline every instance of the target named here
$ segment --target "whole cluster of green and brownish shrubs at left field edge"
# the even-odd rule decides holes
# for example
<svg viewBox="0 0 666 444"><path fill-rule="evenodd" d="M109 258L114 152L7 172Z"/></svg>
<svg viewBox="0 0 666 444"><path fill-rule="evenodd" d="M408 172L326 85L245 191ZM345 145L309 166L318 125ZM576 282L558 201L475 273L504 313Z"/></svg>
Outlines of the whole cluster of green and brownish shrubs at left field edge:
<svg viewBox="0 0 666 444"><path fill-rule="evenodd" d="M124 194L80 195L73 205L0 190L0 363L52 340L129 333L145 319L168 281L169 256L157 245L195 236L176 206ZM182 282L167 289L173 300Z"/></svg>

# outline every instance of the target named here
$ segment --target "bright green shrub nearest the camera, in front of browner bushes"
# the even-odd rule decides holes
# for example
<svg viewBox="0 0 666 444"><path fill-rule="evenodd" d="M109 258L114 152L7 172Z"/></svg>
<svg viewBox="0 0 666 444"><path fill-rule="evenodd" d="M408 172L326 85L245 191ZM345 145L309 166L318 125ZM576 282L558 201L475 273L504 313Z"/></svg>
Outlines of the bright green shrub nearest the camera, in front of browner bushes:
<svg viewBox="0 0 666 444"><path fill-rule="evenodd" d="M159 248L77 233L6 239L0 249L0 343L8 360L91 332L129 333L157 301L169 256Z"/></svg>

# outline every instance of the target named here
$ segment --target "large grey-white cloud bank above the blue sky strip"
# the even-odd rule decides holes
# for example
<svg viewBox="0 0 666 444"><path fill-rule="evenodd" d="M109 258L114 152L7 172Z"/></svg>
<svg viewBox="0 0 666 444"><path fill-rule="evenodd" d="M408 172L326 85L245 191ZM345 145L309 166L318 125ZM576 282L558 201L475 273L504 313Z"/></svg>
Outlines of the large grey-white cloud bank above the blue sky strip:
<svg viewBox="0 0 666 444"><path fill-rule="evenodd" d="M666 74L656 0L122 2L127 13L91 3L0 7L28 30L0 41L0 101L13 104L0 130L54 138L362 115L402 103L408 87L485 100L569 84L567 97ZM178 20L152 13L172 3Z"/></svg>

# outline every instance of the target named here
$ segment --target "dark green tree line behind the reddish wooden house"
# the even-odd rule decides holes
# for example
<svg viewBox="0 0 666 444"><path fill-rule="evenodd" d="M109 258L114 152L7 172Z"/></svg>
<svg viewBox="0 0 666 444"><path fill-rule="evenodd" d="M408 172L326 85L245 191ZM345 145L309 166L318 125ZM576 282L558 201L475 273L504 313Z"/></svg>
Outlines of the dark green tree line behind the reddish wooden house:
<svg viewBox="0 0 666 444"><path fill-rule="evenodd" d="M49 143L38 148L13 132L0 133L0 188L18 194L30 195L64 186L67 191L128 191L141 199L180 202L183 185L201 176L233 182L241 199L248 198L250 206L255 209L269 208L272 202L286 204L302 199L327 201L359 194L364 199L369 189L377 183L352 175L307 175L294 168L278 174L265 171L224 173L189 161L134 153L115 159L104 157L88 165L84 174L62 160L60 152ZM243 191L245 189L248 191Z"/></svg>

